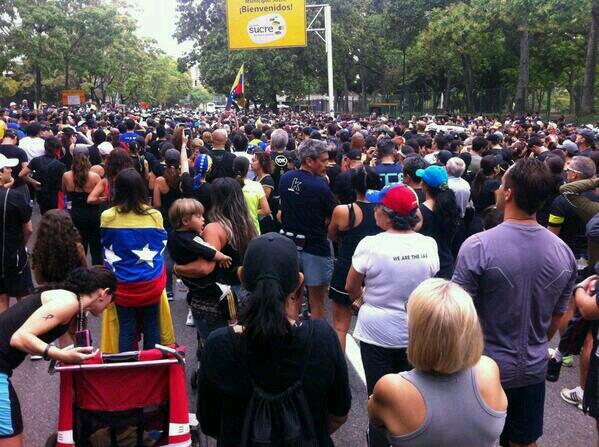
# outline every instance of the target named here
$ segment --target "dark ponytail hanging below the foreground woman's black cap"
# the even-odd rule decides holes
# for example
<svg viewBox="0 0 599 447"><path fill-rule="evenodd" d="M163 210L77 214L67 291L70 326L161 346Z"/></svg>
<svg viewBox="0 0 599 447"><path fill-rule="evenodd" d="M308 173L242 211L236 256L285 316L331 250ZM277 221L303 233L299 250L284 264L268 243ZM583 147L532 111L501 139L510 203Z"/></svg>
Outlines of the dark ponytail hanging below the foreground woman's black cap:
<svg viewBox="0 0 599 447"><path fill-rule="evenodd" d="M256 282L240 317L248 344L254 350L272 346L289 334L291 325L285 311L287 296L275 279L262 278Z"/></svg>

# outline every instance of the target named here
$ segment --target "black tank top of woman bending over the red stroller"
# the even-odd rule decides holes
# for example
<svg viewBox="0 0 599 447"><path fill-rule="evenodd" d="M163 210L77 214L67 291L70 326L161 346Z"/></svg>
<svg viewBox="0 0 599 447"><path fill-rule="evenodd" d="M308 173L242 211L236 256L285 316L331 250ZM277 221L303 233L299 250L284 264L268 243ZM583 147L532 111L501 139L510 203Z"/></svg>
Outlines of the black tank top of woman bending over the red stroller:
<svg viewBox="0 0 599 447"><path fill-rule="evenodd" d="M10 346L10 339L13 334L27 321L27 319L40 307L42 307L42 295L35 295L23 298L14 306L8 308L0 314L0 372L12 375L15 370L27 356L26 352ZM50 332L40 335L38 338L51 343L63 335L69 329L69 325L56 326Z"/></svg>

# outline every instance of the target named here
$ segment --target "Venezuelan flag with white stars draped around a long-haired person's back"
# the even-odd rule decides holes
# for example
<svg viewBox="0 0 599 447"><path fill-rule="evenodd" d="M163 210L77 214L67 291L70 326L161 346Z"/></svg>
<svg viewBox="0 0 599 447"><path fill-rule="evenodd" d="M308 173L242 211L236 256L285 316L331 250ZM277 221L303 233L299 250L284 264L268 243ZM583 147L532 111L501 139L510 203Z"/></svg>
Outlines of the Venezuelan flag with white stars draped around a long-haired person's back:
<svg viewBox="0 0 599 447"><path fill-rule="evenodd" d="M166 285L164 249L168 239L160 212L102 213L104 263L117 277L116 303L124 307L156 304Z"/></svg>

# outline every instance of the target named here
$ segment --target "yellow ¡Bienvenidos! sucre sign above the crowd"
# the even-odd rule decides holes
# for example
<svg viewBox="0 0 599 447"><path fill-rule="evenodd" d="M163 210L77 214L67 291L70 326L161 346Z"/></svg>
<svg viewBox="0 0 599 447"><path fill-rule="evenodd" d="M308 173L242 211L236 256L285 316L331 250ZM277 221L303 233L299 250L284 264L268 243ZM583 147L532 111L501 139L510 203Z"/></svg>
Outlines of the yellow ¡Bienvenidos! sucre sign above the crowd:
<svg viewBox="0 0 599 447"><path fill-rule="evenodd" d="M305 0L227 0L230 50L305 47Z"/></svg>

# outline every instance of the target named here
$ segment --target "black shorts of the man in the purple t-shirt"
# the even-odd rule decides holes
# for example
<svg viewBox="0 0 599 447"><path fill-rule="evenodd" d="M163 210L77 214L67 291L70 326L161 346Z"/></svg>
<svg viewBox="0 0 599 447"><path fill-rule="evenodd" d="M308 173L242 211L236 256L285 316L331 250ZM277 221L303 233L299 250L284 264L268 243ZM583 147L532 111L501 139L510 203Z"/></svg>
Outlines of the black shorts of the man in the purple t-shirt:
<svg viewBox="0 0 599 447"><path fill-rule="evenodd" d="M543 435L545 381L534 385L504 390L507 396L507 417L500 444L532 444Z"/></svg>

